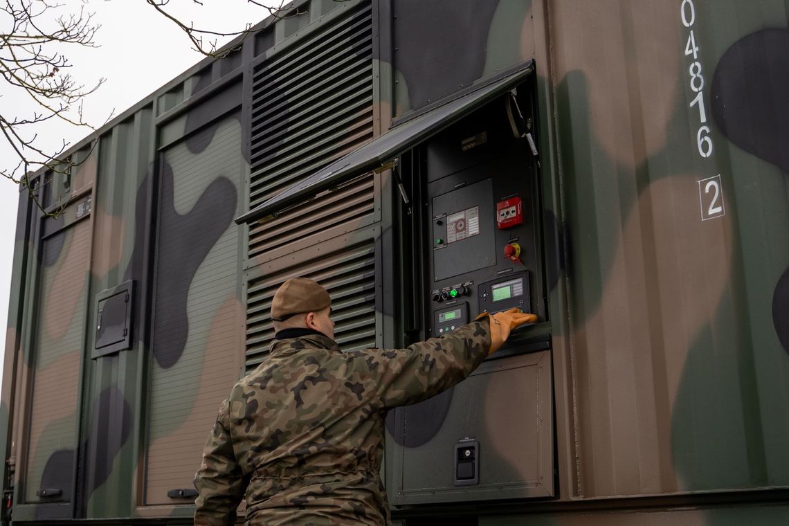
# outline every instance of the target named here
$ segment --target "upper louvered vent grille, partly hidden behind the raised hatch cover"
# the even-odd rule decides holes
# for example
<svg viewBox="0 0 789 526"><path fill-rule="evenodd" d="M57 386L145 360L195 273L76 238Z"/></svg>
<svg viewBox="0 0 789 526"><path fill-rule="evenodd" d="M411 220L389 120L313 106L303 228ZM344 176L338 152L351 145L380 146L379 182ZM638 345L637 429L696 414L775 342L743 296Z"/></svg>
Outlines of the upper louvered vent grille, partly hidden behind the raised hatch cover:
<svg viewBox="0 0 789 526"><path fill-rule="evenodd" d="M366 4L256 66L249 206L372 139L372 17ZM250 229L249 256L367 215L372 175Z"/></svg>

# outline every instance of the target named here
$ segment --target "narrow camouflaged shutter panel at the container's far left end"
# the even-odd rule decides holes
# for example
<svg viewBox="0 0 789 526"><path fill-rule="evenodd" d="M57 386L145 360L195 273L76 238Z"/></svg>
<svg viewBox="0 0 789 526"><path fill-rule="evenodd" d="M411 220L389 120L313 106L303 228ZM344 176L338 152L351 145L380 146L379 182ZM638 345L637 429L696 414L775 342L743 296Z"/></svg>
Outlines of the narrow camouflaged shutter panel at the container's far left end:
<svg viewBox="0 0 789 526"><path fill-rule="evenodd" d="M25 477L27 502L71 499L90 241L90 222L83 220L43 243L38 352ZM36 496L36 491L55 482L57 486L52 489L61 490L62 497Z"/></svg>

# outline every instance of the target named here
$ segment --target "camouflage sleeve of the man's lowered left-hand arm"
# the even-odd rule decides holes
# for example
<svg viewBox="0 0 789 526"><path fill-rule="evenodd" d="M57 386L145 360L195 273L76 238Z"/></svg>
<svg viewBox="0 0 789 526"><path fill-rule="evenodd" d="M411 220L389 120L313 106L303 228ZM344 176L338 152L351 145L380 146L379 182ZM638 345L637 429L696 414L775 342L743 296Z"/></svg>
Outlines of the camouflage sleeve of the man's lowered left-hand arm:
<svg viewBox="0 0 789 526"><path fill-rule="evenodd" d="M236 461L229 430L228 403L223 401L194 479L198 492L196 526L235 524L236 509L244 497L247 481Z"/></svg>

